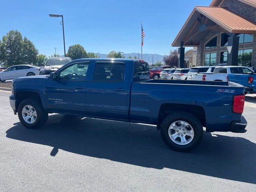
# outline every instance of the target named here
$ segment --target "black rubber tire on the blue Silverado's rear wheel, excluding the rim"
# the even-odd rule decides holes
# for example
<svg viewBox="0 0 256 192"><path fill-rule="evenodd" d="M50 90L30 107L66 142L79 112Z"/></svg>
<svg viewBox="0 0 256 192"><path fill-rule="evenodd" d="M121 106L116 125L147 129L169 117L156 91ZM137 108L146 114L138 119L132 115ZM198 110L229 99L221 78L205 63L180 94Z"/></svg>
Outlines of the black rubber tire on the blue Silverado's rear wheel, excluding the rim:
<svg viewBox="0 0 256 192"><path fill-rule="evenodd" d="M171 140L169 136L169 127L172 123L176 121L185 121L190 124L194 130L194 138L188 144L176 144ZM185 111L180 112L172 112L164 120L161 124L161 136L164 140L165 144L175 151L190 151L196 148L201 142L203 138L203 127L201 122L196 118L193 114Z"/></svg>

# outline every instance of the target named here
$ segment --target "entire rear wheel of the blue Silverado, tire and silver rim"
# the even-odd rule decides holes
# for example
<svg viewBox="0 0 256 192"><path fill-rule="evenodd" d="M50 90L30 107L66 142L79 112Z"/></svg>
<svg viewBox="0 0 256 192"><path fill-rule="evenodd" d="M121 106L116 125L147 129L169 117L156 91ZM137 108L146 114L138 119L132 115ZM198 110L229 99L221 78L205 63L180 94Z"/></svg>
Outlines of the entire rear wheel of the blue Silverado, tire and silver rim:
<svg viewBox="0 0 256 192"><path fill-rule="evenodd" d="M189 112L172 112L162 121L161 136L171 149L190 151L201 143L203 127L198 118Z"/></svg>

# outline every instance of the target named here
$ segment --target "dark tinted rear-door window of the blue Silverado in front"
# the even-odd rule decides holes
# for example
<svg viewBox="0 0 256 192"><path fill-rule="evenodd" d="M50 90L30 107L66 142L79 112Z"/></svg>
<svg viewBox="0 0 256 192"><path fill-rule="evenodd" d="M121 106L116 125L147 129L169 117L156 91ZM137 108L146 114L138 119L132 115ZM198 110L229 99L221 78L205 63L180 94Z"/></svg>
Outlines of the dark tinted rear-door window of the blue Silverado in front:
<svg viewBox="0 0 256 192"><path fill-rule="evenodd" d="M123 82L124 62L96 62L94 82Z"/></svg>

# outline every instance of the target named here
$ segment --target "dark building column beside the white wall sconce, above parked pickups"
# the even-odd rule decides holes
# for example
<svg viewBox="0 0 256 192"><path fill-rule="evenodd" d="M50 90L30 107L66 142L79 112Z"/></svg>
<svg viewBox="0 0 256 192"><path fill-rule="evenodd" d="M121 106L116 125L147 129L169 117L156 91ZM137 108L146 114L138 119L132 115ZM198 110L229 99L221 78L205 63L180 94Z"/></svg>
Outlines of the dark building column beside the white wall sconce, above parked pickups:
<svg viewBox="0 0 256 192"><path fill-rule="evenodd" d="M232 46L231 53L228 53L228 66L238 66L239 37L234 34L228 38L228 46Z"/></svg>

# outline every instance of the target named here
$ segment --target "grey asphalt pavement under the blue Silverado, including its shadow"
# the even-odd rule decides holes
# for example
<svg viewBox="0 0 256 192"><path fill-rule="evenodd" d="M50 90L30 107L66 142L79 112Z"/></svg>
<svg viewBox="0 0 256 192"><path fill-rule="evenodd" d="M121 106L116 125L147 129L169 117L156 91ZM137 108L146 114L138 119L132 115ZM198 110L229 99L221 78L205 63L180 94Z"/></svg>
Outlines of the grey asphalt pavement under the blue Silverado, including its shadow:
<svg viewBox="0 0 256 192"><path fill-rule="evenodd" d="M0 191L255 192L256 108L245 134L206 133L175 152L156 126L52 114L29 130L0 92Z"/></svg>

